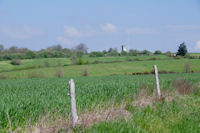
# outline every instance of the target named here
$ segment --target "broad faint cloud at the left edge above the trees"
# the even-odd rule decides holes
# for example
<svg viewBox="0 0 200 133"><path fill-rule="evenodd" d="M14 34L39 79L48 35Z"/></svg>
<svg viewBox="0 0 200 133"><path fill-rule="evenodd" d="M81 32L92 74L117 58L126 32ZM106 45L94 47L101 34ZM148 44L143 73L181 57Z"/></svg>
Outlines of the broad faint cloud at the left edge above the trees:
<svg viewBox="0 0 200 133"><path fill-rule="evenodd" d="M20 28L4 27L1 32L3 35L9 38L19 39L19 40L30 39L35 36L40 36L43 34L42 30L27 25Z"/></svg>

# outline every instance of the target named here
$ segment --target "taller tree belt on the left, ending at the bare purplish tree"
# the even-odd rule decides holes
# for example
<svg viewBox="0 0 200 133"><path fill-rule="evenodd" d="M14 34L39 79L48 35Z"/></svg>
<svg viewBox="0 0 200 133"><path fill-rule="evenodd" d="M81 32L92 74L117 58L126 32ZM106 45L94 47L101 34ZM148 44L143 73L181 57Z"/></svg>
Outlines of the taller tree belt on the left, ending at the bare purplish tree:
<svg viewBox="0 0 200 133"><path fill-rule="evenodd" d="M53 45L39 51L16 46L5 49L3 45L0 45L0 60L81 57L87 54L87 49L85 44L79 44L73 49L63 48L61 45Z"/></svg>

